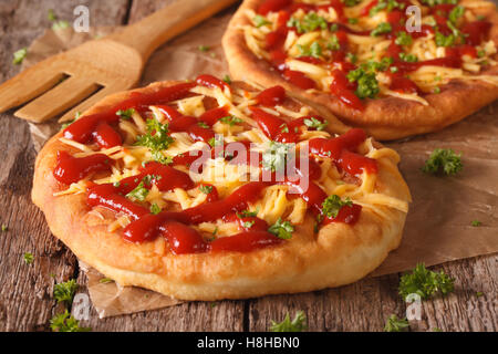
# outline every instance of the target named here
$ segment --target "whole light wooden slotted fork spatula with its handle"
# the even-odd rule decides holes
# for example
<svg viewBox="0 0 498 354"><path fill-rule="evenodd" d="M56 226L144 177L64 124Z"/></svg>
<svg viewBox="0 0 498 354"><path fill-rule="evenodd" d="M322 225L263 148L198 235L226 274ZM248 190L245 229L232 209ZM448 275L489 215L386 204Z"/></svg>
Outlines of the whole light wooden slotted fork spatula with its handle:
<svg viewBox="0 0 498 354"><path fill-rule="evenodd" d="M0 112L37 97L14 115L40 123L70 110L61 121L72 119L136 85L155 49L235 1L178 0L120 32L51 56L0 85Z"/></svg>

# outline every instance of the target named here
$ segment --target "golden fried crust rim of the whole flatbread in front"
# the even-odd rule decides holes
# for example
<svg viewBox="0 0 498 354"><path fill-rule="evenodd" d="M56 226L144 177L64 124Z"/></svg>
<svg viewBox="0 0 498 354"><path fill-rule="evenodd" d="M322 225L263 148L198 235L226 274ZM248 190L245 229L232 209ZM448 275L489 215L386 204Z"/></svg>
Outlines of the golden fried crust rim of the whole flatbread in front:
<svg viewBox="0 0 498 354"><path fill-rule="evenodd" d="M156 83L138 92L149 92L172 83ZM112 106L129 92L106 97L89 113ZM297 227L291 240L249 253L224 252L174 256L164 238L142 244L108 232L105 221L85 202L85 195L53 194L64 190L52 175L58 150L70 150L52 137L37 157L33 202L43 210L53 235L81 260L122 285L136 285L184 300L218 300L294 293L354 282L374 270L401 240L405 214L381 207L363 208L354 227L331 223L313 233L309 217ZM397 162L380 159L378 192L409 200ZM105 214L105 212L104 212Z"/></svg>

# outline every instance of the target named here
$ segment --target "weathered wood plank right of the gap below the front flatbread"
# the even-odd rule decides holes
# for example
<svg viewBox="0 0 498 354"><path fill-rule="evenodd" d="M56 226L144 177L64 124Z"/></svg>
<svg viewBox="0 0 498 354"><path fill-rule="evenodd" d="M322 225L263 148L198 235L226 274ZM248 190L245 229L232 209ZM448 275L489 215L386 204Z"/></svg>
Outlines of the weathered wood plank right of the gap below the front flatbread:
<svg viewBox="0 0 498 354"><path fill-rule="evenodd" d="M447 298L423 302L422 320L412 331L496 331L497 257L486 256L434 267L455 278L456 291ZM406 305L397 294L400 274L364 279L339 289L297 295L266 296L250 302L251 331L266 331L271 320L302 310L310 331L383 331L393 313L404 316ZM477 296L483 292L483 296Z"/></svg>

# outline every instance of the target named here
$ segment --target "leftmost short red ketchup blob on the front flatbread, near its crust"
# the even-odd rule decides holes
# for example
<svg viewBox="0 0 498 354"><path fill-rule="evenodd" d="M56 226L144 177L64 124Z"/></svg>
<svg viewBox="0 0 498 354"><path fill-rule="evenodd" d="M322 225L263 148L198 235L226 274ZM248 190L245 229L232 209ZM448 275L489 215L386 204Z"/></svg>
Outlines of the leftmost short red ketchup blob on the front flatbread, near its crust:
<svg viewBox="0 0 498 354"><path fill-rule="evenodd" d="M111 170L111 158L104 154L73 157L68 152L59 152L53 176L60 183L71 185L92 173Z"/></svg>

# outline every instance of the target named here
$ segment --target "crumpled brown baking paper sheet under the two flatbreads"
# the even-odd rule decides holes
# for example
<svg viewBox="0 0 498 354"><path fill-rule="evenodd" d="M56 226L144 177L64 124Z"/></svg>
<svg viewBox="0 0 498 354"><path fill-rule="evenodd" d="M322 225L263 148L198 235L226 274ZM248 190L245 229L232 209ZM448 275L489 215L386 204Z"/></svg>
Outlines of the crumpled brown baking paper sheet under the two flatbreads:
<svg viewBox="0 0 498 354"><path fill-rule="evenodd" d="M142 85L163 80L194 79L199 73L228 74L221 35L230 11L211 18L153 54ZM81 44L113 29L74 33L71 29L48 30L29 48L24 65ZM207 45L208 51L199 51ZM417 262L438 264L498 250L498 119L495 102L443 132L386 144L402 156L401 170L413 196L401 247L372 275L396 273ZM37 149L60 124L30 124ZM453 148L463 155L464 170L455 177L423 174L421 167L434 148ZM483 222L473 227L471 221ZM153 291L101 283L94 269L83 266L89 292L101 317L154 310L179 303Z"/></svg>

